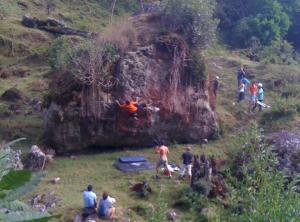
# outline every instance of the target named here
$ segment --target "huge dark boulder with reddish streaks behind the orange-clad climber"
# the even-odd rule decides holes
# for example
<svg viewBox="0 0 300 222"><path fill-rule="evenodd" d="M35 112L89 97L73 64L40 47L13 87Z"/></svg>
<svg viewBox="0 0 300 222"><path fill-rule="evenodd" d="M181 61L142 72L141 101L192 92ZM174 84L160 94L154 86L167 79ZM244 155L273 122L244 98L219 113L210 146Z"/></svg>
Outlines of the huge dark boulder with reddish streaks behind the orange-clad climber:
<svg viewBox="0 0 300 222"><path fill-rule="evenodd" d="M74 82L71 74L53 81L52 90L61 94L49 105L45 137L58 152L88 146L151 146L159 140L192 143L216 133L209 81L188 84L185 69L174 70L176 50L183 44L180 37L172 37L172 51L164 37L149 34L145 39L143 33L140 28L139 46L116 65L114 75L119 83L112 90L70 87ZM68 92L61 90L66 85ZM138 120L115 103L132 98L151 104L139 113Z"/></svg>

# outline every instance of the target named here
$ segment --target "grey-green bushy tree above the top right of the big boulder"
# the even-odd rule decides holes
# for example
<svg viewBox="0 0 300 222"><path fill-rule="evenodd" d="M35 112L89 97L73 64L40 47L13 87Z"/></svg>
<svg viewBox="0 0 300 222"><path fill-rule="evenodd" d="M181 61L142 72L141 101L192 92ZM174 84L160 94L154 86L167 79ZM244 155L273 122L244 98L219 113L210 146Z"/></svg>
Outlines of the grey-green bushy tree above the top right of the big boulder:
<svg viewBox="0 0 300 222"><path fill-rule="evenodd" d="M215 39L215 4L214 0L164 0L161 11L170 31L184 34L193 46L205 48Z"/></svg>

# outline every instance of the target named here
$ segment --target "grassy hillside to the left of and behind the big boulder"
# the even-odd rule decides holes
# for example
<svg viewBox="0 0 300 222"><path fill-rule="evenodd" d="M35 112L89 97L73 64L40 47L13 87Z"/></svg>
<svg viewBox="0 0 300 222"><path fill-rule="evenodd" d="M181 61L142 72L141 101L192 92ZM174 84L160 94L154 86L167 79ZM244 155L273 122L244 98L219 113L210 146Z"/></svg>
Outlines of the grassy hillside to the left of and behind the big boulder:
<svg viewBox="0 0 300 222"><path fill-rule="evenodd" d="M52 0L50 17L63 20L71 28L101 32L110 20L108 0ZM0 139L10 140L25 136L29 143L36 143L42 133L42 112L29 105L32 100L41 101L47 93L51 69L48 49L57 38L38 29L21 24L22 16L30 14L46 19L47 1L0 0L0 95L7 89L19 89L24 99L11 111L12 103L0 100ZM138 1L124 0L116 5L114 20L126 17L138 9ZM26 72L24 77L13 72ZM27 115L30 113L30 115Z"/></svg>

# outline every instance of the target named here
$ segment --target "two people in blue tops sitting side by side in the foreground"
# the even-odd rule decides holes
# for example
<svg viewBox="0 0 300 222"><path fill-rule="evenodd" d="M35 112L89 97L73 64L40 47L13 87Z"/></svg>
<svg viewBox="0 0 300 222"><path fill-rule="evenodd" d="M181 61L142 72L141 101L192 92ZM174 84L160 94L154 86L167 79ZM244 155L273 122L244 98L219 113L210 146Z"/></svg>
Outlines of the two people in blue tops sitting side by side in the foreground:
<svg viewBox="0 0 300 222"><path fill-rule="evenodd" d="M113 207L113 204L116 202L116 200L110 197L107 192L103 193L98 206L97 195L93 192L92 185L88 185L87 189L83 191L82 195L84 212L87 216L95 213L99 218L103 219L112 219L115 216L116 208Z"/></svg>

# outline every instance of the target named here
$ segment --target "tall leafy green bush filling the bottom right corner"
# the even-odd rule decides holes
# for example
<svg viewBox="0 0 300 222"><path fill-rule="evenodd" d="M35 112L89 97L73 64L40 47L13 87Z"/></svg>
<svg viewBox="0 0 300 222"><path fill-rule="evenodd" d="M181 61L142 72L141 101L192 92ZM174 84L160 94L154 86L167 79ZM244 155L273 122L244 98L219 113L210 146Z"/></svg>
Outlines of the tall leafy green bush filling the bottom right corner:
<svg viewBox="0 0 300 222"><path fill-rule="evenodd" d="M264 143L256 123L241 135L239 159L243 159L243 179L232 178L231 204L237 211L224 212L228 221L297 221L299 194L277 170L277 158ZM247 144L247 145L245 145ZM250 158L249 158L250 156ZM246 161L247 160L247 161ZM227 221L225 220L225 221Z"/></svg>

